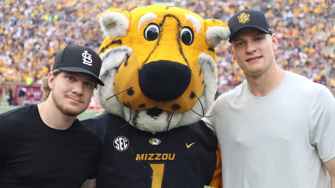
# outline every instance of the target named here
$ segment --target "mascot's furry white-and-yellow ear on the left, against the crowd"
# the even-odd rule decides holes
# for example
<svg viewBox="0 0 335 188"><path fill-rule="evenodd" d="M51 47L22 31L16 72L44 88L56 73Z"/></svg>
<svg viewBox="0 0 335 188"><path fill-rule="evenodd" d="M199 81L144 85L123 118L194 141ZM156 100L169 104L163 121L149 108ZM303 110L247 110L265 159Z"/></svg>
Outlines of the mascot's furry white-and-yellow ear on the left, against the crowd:
<svg viewBox="0 0 335 188"><path fill-rule="evenodd" d="M107 37L114 39L125 36L130 24L130 13L122 9L110 8L101 14L99 22Z"/></svg>

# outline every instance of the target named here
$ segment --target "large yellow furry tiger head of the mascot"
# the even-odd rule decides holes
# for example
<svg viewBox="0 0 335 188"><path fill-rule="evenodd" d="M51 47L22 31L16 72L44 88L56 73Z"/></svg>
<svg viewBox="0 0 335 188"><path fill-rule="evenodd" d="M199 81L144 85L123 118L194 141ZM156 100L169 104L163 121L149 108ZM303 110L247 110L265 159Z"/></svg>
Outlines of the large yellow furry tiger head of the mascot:
<svg viewBox="0 0 335 188"><path fill-rule="evenodd" d="M94 95L107 111L157 132L199 121L216 92L215 47L230 31L217 19L150 5L100 16L104 39Z"/></svg>

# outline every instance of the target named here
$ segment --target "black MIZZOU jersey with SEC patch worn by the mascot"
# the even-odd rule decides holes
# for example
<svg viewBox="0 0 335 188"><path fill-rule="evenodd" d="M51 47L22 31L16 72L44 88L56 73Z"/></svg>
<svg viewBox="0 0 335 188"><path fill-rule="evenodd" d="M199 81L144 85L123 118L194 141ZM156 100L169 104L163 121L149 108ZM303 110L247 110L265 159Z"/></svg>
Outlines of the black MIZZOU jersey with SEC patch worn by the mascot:
<svg viewBox="0 0 335 188"><path fill-rule="evenodd" d="M203 188L212 180L217 139L203 121L155 134L111 113L82 123L102 143L98 188Z"/></svg>

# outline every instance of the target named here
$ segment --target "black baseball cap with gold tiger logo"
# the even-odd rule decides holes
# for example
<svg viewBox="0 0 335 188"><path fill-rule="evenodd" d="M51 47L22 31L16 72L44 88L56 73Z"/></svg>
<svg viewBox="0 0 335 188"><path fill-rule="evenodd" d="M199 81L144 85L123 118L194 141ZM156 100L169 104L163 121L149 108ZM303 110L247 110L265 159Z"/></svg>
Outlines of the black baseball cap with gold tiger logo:
<svg viewBox="0 0 335 188"><path fill-rule="evenodd" d="M229 42L231 42L234 35L246 28L257 28L272 35L271 27L260 10L242 10L234 14L228 20L228 27L230 29Z"/></svg>

